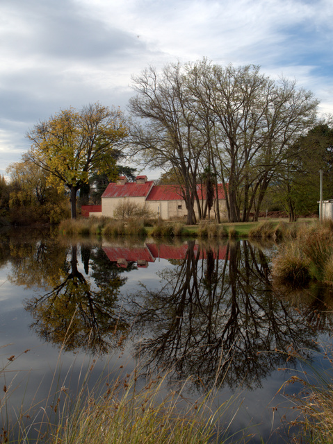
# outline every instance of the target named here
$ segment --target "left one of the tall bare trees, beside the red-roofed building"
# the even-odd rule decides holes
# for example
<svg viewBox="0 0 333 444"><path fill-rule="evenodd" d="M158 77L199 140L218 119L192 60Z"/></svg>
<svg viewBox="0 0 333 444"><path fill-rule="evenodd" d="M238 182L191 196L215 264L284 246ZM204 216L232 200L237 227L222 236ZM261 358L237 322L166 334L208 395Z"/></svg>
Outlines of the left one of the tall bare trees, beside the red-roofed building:
<svg viewBox="0 0 333 444"><path fill-rule="evenodd" d="M197 130L197 113L191 106L181 65L170 64L161 74L152 67L133 77L137 92L129 102L136 117L145 119L143 126L131 130L132 154L141 153L149 167L172 169L182 184L187 223L196 221L197 173L200 155L207 140ZM200 205L198 205L199 217Z"/></svg>

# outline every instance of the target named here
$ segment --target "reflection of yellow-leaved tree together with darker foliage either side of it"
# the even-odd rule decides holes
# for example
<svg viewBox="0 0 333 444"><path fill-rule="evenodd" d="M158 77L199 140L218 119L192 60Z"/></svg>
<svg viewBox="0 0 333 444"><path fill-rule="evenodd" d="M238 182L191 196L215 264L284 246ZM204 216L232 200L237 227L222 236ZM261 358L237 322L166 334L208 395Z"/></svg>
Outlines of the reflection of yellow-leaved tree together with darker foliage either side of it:
<svg viewBox="0 0 333 444"><path fill-rule="evenodd" d="M87 277L79 271L75 245L52 241L17 243L11 248L11 282L47 290L26 300L34 318L33 331L64 350L108 352L120 346L129 326L117 303L126 278L101 248L81 248ZM88 276L91 266L91 278Z"/></svg>

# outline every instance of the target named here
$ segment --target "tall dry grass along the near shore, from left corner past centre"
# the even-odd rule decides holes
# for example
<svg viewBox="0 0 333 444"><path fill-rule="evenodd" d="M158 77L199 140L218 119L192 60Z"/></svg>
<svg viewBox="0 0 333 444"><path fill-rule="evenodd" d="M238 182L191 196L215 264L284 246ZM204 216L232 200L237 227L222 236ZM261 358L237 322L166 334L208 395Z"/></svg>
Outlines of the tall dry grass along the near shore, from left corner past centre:
<svg viewBox="0 0 333 444"><path fill-rule="evenodd" d="M5 373L8 368L2 368ZM234 400L213 409L214 392L189 400L186 389L190 378L167 391L168 373L147 379L136 368L115 379L101 375L92 388L88 382L92 367L83 379L79 393L71 394L66 382L58 381L58 391L34 407L17 412L15 422L0 432L1 443L12 444L208 444L220 443L227 433L219 420ZM123 370L122 370L123 371ZM56 380L56 376L54 377ZM0 409L7 409L10 389L3 389ZM50 405L51 404L51 405ZM215 413L213 413L215 411ZM6 412L5 412L6 413ZM5 414L6 416L6 414ZM37 420L38 418L38 420ZM3 422L4 423L4 422ZM35 435L31 438L31 430Z"/></svg>

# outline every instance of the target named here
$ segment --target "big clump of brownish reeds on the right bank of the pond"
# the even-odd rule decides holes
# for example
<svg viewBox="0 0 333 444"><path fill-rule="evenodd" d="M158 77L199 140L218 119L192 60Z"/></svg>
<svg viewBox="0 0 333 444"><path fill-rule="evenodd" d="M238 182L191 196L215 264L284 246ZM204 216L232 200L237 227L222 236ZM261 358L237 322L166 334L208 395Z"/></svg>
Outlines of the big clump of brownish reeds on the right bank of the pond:
<svg viewBox="0 0 333 444"><path fill-rule="evenodd" d="M273 261L273 276L304 285L309 280L333 285L333 230L330 223L317 223L298 230L280 248Z"/></svg>

